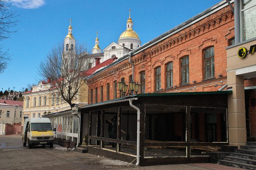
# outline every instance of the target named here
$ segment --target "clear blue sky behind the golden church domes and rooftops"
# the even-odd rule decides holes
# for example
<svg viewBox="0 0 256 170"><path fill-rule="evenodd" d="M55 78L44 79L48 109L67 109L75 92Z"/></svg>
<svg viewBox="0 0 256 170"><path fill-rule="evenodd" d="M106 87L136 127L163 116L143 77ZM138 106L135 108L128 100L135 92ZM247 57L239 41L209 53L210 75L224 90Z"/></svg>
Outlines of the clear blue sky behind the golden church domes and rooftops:
<svg viewBox="0 0 256 170"><path fill-rule="evenodd" d="M37 68L51 48L67 35L72 18L77 42L94 46L96 31L104 49L117 42L129 17L142 45L220 0L11 0L11 11L19 17L16 33L2 42L12 60L0 74L0 90L22 91L28 83L38 83Z"/></svg>

